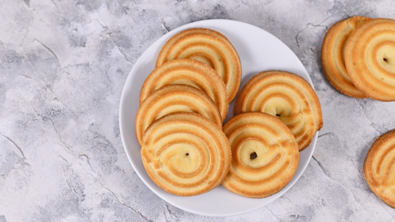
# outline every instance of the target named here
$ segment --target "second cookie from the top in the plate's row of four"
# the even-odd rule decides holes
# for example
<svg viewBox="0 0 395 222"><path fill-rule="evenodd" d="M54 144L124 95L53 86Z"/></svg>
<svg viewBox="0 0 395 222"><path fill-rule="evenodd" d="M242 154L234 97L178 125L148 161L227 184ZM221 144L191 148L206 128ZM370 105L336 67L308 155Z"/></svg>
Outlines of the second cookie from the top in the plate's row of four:
<svg viewBox="0 0 395 222"><path fill-rule="evenodd" d="M222 121L225 120L228 112L225 84L213 68L192 59L175 59L156 67L141 87L140 104L152 91L171 84L185 84L203 90L218 105Z"/></svg>

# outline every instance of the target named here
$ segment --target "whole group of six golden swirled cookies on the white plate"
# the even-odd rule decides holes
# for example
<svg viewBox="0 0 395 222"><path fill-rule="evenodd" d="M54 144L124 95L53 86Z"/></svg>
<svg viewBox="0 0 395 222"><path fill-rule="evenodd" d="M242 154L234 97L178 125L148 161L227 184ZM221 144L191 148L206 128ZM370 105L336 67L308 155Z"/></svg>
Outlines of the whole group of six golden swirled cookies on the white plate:
<svg viewBox="0 0 395 222"><path fill-rule="evenodd" d="M240 58L219 32L192 28L166 42L142 85L135 125L143 165L157 186L192 196L222 183L263 198L291 180L299 151L323 125L317 95L293 73L258 73L222 127L240 79Z"/></svg>

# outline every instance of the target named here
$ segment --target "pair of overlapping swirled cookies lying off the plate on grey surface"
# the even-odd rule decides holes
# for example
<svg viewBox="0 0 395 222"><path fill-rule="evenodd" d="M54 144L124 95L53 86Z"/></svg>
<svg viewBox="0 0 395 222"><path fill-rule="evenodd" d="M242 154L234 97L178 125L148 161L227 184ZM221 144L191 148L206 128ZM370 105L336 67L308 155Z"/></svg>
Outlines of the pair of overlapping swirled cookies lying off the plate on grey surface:
<svg viewBox="0 0 395 222"><path fill-rule="evenodd" d="M395 100L395 20L354 16L328 30L321 61L329 82L355 98Z"/></svg>

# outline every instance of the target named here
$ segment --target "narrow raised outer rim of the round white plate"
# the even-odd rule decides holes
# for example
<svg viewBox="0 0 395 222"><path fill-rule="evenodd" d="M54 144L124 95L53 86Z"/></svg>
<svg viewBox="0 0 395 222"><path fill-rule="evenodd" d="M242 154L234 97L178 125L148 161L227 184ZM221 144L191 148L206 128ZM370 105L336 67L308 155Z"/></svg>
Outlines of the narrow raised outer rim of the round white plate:
<svg viewBox="0 0 395 222"><path fill-rule="evenodd" d="M309 164L309 162L310 162L310 160L311 160L312 154L313 154L313 152L314 152L314 150L315 150L315 146L317 145L317 140L318 140L319 131L317 131L317 132L315 133L315 135L313 136L313 139L312 139L311 143L309 144L309 146L311 145L312 148L310 149L310 154L308 154L308 158L307 158L307 161L306 161L305 165L301 168L300 174L299 174L299 175L296 175L295 179L294 179L294 177L292 177L294 180L291 180L289 183L287 183L286 187L284 187L284 188L279 192L279 193L281 193L281 195L280 195L279 197L276 197L276 198L274 198L274 199L272 199L272 200L270 200L270 201L268 201L268 202L266 202L266 203L264 203L264 204L257 204L255 207L249 208L249 209L244 210L244 211L230 212L230 213L227 213L227 214L224 214L224 213L218 213L218 214L204 213L204 212L201 212L201 211L196 211L196 210L194 210L194 209L186 208L186 207L184 207L184 206L182 206L182 205L180 205L180 204L178 204L178 203L176 203L176 202L174 202L174 201L171 201L171 200L169 201L169 200L167 200L167 199L164 199L164 198L162 197L161 194L159 194L158 192L156 192L156 190L152 189L152 188L147 184L147 182L145 181L145 177L142 177L142 174L141 174L138 170L136 170L136 165L135 165L135 163L132 161L132 158L130 157L129 152L128 152L128 150L127 150L128 144L126 143L126 140L124 139L124 137L126 136L126 132L124 132L124 130L123 130L123 128L124 128L124 123L123 123L123 121L122 121L122 117L125 115L125 114L123 113L123 112L124 112L124 108L123 108L123 107L124 107L125 97L127 96L127 95L126 95L126 91L127 91L127 88L128 88L128 87L127 87L127 84L130 83L130 82L132 82L133 76L131 75L131 73L133 73L133 72L136 71L136 69L137 69L136 64L140 64L140 63L143 61L143 59L146 57L146 54L149 54L149 53L150 53L148 49L149 49L150 47L152 47L152 45L157 45L157 44L159 44L159 43L161 43L161 42L165 43L165 40L168 39L170 36L174 35L175 33L179 32L179 31L181 31L181 30L183 30L183 29L191 28L192 26L198 26L200 23L206 23L206 22L212 22L212 23L218 23L218 22L219 22L219 23L221 23L221 22L230 22L230 23L234 22L234 23L240 23L241 25L251 26L252 28L258 28L258 29L260 29L260 31L266 32L266 34L271 35L272 38L277 39L281 44L283 44L286 48L288 48L288 49L295 55L295 57L297 58L297 62L299 62L299 65L300 65L301 67L303 67L303 70L306 72L307 77L308 77L308 79L305 79L304 77L302 77L302 78L304 78L304 79L310 84L310 86L313 88L313 90L315 91L314 86L313 86L313 84L312 84L312 80L311 80L311 78L310 78L310 76L309 76L309 74L308 74L308 72L307 72L305 66L304 66L303 63L300 61L299 57L298 57L298 56L297 56L297 55L296 55L296 54L295 54L295 53L294 53L284 42L282 42L280 39L278 39L276 36L274 36L274 35L271 34L270 32L268 32L268 31L266 31L266 30L264 30L264 29L262 29L262 28L260 28L260 27L258 27L258 26L256 26L256 25L252 25L252 24L249 24L249 23L246 23L246 22L242 22L242 21L230 20L230 19L205 19L205 20L194 21L194 22L190 22L190 23L186 23L186 24L184 24L184 25L178 26L178 27L172 29L171 31L165 33L164 35L162 35L159 39L155 40L152 44L150 44L150 46L148 46L148 47L144 50L144 52L139 56L139 58L138 58L138 59L136 60L136 62L133 64L133 67L132 67L132 69L130 70L130 72L129 72L129 74L128 74L128 77L127 77L127 79L125 80L124 87L123 87L122 94L121 94L121 99L120 99L120 106L119 106L119 109L120 109L120 110L119 110L120 135L121 135L122 144L123 144L123 146L124 146L124 151L125 151L125 153L126 153L126 155L127 155L127 157L128 157L129 163L130 163L130 164L132 165L132 167L133 167L134 172L136 172L136 174L137 174L137 175L139 176L139 178L143 181L143 183L145 184L145 186L147 186L147 187L149 188L149 190L151 190L155 195L157 195L158 197L160 197L160 198L161 198L162 200L164 200L165 202L167 202L167 203L169 203L169 204L171 204L171 205L173 205L173 206L175 206L175 207L177 207L177 208L179 208L179 209L182 209L182 210L185 210L185 211L194 213L194 214L199 214L199 215L205 215L205 216L234 216L234 215L241 215L241 214L245 214L245 213L248 213L248 212L257 210L257 209L259 209L259 208L262 208L262 207L266 206L267 204L273 202L274 200L277 200L277 199L280 198L282 195L284 195L285 193L287 193L288 190L291 189L291 188L294 186L294 184L300 179L301 175L304 173L305 169L307 168L307 166L308 166L308 164ZM204 24L204 25L207 26L207 24ZM297 74L297 75L298 75L298 74ZM299 76L299 75L298 75L298 76ZM242 86L241 86L241 87L242 87ZM240 90L240 89L239 89L239 90ZM305 150L306 150L306 149L305 149ZM303 152L303 151L301 151L301 152ZM295 176L295 175L294 175L294 176ZM220 185L220 186L222 186L222 185ZM277 194L278 194L278 193L277 193ZM274 195L277 195L277 194L274 194Z"/></svg>

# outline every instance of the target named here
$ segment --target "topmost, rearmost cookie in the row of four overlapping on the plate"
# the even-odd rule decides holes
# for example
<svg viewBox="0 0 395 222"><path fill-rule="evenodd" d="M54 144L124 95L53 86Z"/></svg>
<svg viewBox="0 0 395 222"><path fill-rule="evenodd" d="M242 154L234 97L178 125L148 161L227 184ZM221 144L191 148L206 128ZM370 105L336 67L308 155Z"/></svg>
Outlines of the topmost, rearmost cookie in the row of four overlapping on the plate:
<svg viewBox="0 0 395 222"><path fill-rule="evenodd" d="M183 30L165 43L157 57L156 67L180 58L198 60L214 68L226 85L228 102L236 96L242 66L238 53L223 34L208 28Z"/></svg>

